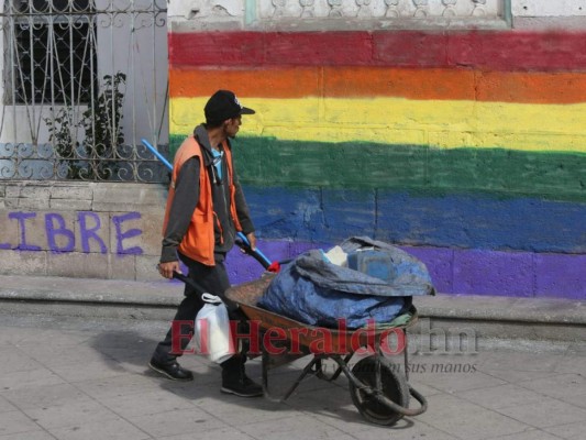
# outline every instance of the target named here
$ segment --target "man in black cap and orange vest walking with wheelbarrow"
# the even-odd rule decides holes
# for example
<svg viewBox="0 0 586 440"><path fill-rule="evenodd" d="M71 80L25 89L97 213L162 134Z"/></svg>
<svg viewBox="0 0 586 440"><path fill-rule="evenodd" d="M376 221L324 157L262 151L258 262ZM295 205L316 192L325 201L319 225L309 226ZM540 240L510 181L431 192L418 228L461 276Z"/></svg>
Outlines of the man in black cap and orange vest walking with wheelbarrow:
<svg viewBox="0 0 586 440"><path fill-rule="evenodd" d="M202 293L223 297L230 287L224 260L234 245L236 232L246 237L251 249L256 248L254 226L234 170L230 144L242 124L242 114L253 113L254 110L241 106L232 91L218 90L206 103L206 123L196 127L175 155L158 268L162 276L172 278L174 273L180 273L181 261L188 267L187 277L202 292L186 284L174 322L194 321L204 305ZM244 318L239 310L231 310L230 315L232 320ZM172 326L148 363L152 370L174 381L194 378L192 372L177 362L189 343L185 334L191 333L190 329L184 330ZM181 337L174 343L177 333ZM177 344L178 351L174 350ZM221 391L243 397L262 396L261 385L245 373L245 353L236 353L221 363Z"/></svg>

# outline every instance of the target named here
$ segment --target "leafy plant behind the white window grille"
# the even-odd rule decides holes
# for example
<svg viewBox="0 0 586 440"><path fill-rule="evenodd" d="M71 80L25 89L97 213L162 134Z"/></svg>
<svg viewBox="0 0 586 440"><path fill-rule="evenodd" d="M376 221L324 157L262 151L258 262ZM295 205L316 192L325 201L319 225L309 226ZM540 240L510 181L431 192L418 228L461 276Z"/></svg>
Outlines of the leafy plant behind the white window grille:
<svg viewBox="0 0 586 440"><path fill-rule="evenodd" d="M122 132L122 108L126 75L119 72L106 75L98 96L78 121L74 109L59 109L53 119L45 118L60 166L67 167L69 179L108 179L117 170L119 150L124 144ZM82 130L82 142L76 142L78 130Z"/></svg>

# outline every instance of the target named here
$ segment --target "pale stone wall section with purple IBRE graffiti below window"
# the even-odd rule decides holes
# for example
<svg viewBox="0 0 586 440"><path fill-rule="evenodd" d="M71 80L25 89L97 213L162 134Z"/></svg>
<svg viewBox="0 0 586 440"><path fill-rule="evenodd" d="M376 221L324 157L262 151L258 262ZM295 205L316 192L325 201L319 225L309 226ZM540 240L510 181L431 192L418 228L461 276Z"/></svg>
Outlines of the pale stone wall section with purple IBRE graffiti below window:
<svg viewBox="0 0 586 440"><path fill-rule="evenodd" d="M163 185L0 183L0 274L159 279Z"/></svg>

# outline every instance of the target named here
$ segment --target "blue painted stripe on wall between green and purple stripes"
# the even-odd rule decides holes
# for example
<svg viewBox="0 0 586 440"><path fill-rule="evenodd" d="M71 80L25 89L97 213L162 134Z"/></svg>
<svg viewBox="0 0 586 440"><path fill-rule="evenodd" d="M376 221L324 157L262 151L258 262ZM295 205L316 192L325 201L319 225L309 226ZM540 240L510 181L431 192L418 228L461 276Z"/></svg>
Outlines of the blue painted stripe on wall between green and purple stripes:
<svg viewBox="0 0 586 440"><path fill-rule="evenodd" d="M586 253L586 202L406 191L244 188L258 237L351 235L440 248Z"/></svg>

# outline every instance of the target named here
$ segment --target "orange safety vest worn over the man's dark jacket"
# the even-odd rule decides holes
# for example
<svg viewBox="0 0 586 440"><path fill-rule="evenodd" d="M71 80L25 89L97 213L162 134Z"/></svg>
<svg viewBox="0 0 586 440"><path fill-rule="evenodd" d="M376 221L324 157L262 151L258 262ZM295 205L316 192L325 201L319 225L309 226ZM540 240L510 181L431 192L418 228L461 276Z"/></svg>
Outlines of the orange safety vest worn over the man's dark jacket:
<svg viewBox="0 0 586 440"><path fill-rule="evenodd" d="M233 182L233 167L232 167L232 152L228 146L228 142L222 142L224 150L226 164L228 164L228 176L230 185L230 212L236 227L236 231L242 231L237 215L236 215L236 202L235 194L236 187ZM179 175L179 170L185 162L194 156L199 157L199 200L191 216L191 222L187 229L187 233L179 243L178 251L187 255L188 257L198 261L208 266L213 266L215 260L213 257L214 249L214 234L213 234L213 221L218 222L220 230L222 229L219 223L220 220L213 211L213 200L210 178L208 170L203 165L203 158L201 155L201 146L198 144L194 135L187 138L179 150L175 155L175 162L173 166L172 182L169 187L169 195L167 197L167 208L165 209L165 221L163 223L163 234L167 230L167 222L169 221L169 211L173 205L173 199L175 198L175 182ZM223 239L222 239L223 240Z"/></svg>

